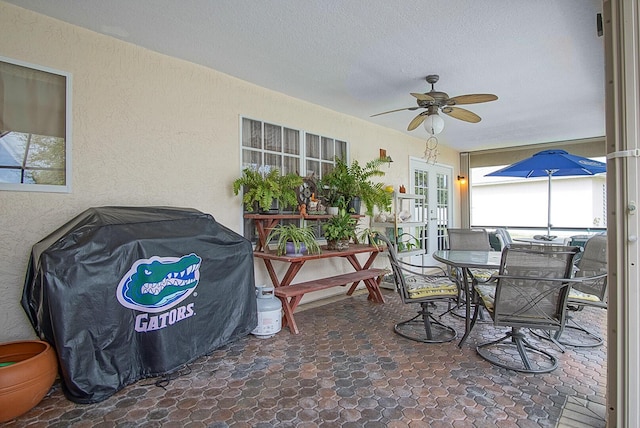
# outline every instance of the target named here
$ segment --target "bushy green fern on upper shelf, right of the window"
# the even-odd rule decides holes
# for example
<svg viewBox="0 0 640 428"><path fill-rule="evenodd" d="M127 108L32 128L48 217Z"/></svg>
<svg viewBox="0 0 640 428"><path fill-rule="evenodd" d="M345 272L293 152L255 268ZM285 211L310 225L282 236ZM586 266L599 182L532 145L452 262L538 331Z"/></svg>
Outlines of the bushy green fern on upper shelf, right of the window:
<svg viewBox="0 0 640 428"><path fill-rule="evenodd" d="M334 169L322 178L322 183L325 188L333 189L342 196L354 214L360 213L358 200L364 203L369 215L373 214L374 207L389 211L391 194L385 191L383 183L371 181L372 177L384 175L380 169L382 163L380 159L373 159L365 165L360 165L357 160L348 164L344 159L336 158Z"/></svg>

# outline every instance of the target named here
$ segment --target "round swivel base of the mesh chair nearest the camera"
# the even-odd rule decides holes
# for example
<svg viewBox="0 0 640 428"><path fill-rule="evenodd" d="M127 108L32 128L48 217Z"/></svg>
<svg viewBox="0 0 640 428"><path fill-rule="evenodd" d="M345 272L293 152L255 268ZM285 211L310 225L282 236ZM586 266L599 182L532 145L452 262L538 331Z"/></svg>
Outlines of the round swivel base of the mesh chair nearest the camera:
<svg viewBox="0 0 640 428"><path fill-rule="evenodd" d="M558 367L556 357L533 346L515 327L500 339L479 345L476 351L491 364L522 373L549 373Z"/></svg>

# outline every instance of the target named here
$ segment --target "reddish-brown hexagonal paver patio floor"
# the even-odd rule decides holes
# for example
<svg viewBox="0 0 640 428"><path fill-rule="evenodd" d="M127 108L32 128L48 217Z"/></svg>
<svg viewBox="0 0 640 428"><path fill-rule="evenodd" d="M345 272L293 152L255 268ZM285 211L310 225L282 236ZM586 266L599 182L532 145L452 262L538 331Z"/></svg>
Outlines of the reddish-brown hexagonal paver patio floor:
<svg viewBox="0 0 640 428"><path fill-rule="evenodd" d="M554 350L560 359L554 372L516 373L476 355L476 343L503 330L478 325L462 349L456 342L412 342L393 324L416 307L383 293L385 304L356 293L302 306L299 335L286 328L268 339L249 335L189 364L164 388L141 380L101 403L80 405L55 384L5 426L604 426L598 413L605 405L606 346ZM579 318L604 334L606 311L585 309ZM462 333L461 320L444 319Z"/></svg>

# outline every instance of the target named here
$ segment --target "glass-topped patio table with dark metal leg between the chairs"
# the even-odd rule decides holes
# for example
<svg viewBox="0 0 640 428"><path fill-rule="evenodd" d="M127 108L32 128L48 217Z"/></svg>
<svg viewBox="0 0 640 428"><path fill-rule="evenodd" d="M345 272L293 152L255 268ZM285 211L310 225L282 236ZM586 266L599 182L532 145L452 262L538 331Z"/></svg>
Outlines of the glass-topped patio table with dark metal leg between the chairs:
<svg viewBox="0 0 640 428"><path fill-rule="evenodd" d="M470 250L438 250L433 253L433 258L462 272L462 280L459 281L460 289L466 294L465 299L465 330L458 346L461 346L469 335L471 326L471 299L473 287L469 287L469 269L498 269L500 267L500 251L470 251Z"/></svg>

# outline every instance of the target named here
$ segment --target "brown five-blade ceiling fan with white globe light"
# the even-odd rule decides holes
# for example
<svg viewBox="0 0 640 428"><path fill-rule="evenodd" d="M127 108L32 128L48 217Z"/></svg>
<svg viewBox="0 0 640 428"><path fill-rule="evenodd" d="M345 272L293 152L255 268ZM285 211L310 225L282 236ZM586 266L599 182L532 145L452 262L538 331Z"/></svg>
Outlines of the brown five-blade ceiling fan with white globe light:
<svg viewBox="0 0 640 428"><path fill-rule="evenodd" d="M486 103L489 101L495 101L498 99L497 96L493 94L469 94L469 95L458 95L457 97L449 98L444 92L436 91L433 85L438 81L440 77L437 74L430 74L427 76L427 83L431 84L431 91L425 94L419 94L412 92L416 98L417 106L415 107L405 107L399 108L396 110L385 111L383 113L374 114L371 117L380 116L381 114L393 113L396 111L402 110L417 110L420 108L426 109L425 111L418 114L413 118L411 122L409 122L409 126L407 127L407 131L413 131L420 124L424 123L424 127L432 135L438 134L444 128L444 120L438 115L438 112L454 117L456 119L464 120L465 122L478 123L480 122L480 116L477 114L460 108L454 107L460 104L478 104L478 103Z"/></svg>

